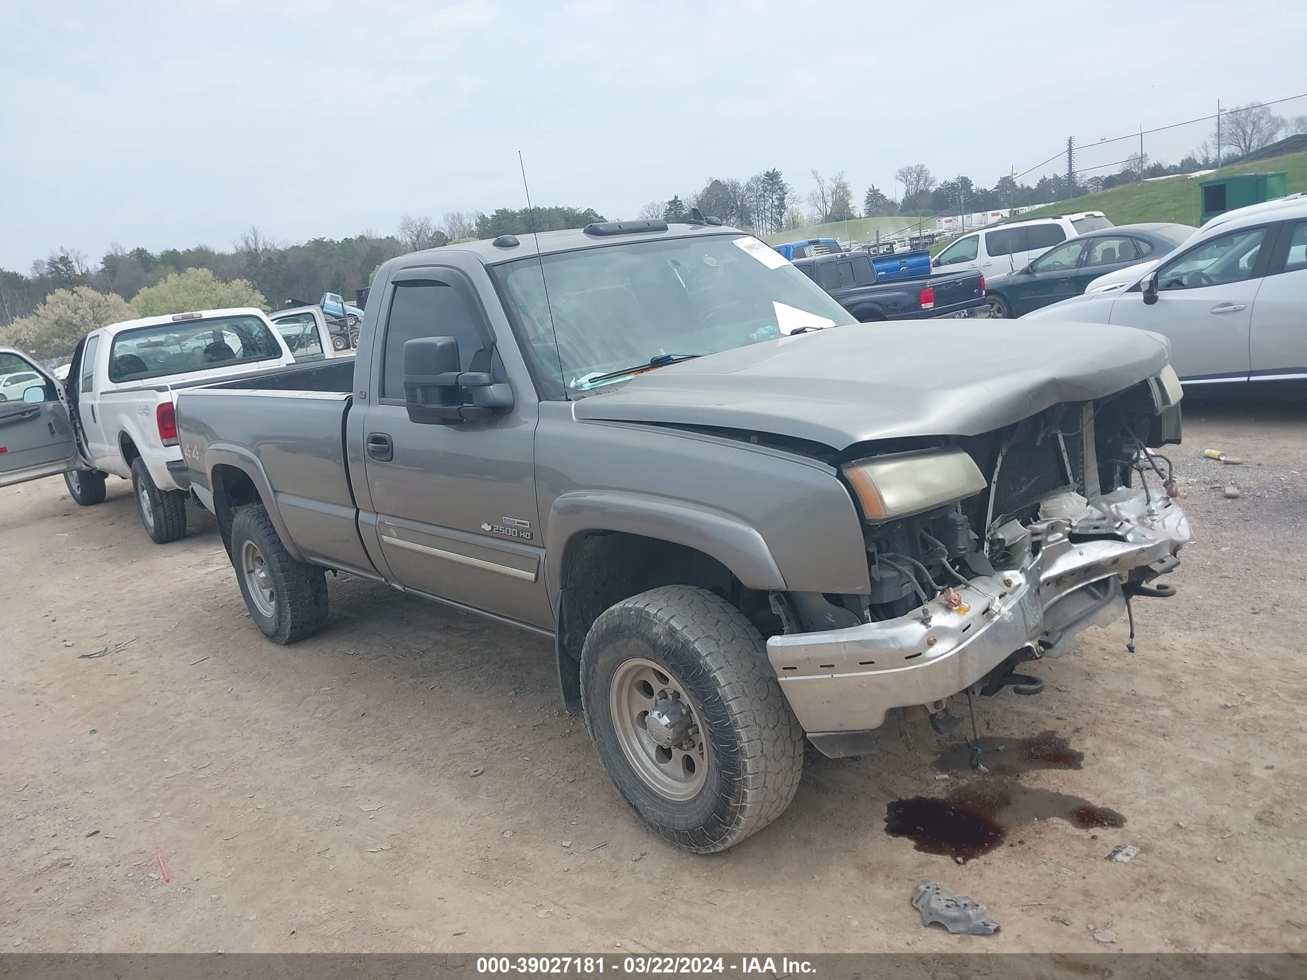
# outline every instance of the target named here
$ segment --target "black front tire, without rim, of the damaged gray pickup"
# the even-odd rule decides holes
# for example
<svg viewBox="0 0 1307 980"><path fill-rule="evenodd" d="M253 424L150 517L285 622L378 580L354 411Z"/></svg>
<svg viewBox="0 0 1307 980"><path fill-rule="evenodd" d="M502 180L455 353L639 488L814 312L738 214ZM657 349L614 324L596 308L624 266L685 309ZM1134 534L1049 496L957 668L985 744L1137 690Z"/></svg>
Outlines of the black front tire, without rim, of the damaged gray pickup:
<svg viewBox="0 0 1307 980"><path fill-rule="evenodd" d="M672 800L633 767L617 734L612 682L623 662L661 665L706 729L707 775ZM665 585L623 600L589 629L582 704L600 762L652 831L695 853L725 851L776 819L799 789L804 733L753 623L707 589Z"/></svg>

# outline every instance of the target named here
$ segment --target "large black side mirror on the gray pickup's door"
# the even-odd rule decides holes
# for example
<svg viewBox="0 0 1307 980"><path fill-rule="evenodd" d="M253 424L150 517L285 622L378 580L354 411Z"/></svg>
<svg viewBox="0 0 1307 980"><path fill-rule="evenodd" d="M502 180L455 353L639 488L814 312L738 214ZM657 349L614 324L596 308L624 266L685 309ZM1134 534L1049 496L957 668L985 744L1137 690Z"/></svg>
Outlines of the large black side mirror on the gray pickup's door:
<svg viewBox="0 0 1307 980"><path fill-rule="evenodd" d="M493 368L494 350L481 353L486 368ZM460 371L459 363L459 341L454 337L405 341L404 404L410 422L456 425L512 408L512 388L507 382L495 382L491 370Z"/></svg>

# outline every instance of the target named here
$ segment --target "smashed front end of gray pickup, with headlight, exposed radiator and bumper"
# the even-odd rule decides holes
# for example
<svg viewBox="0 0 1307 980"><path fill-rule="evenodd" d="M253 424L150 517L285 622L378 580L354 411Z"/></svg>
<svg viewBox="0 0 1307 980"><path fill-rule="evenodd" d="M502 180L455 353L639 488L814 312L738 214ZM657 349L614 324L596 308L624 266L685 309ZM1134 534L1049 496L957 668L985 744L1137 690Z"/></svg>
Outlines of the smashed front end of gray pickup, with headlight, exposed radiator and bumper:
<svg viewBox="0 0 1307 980"><path fill-rule="evenodd" d="M944 723L953 695L1038 693L1021 662L1069 652L1077 632L1119 619L1136 596L1174 595L1149 584L1191 540L1153 448L1179 439L1168 382L843 468L870 593L776 596L786 631L767 640L821 751L868 751L891 708Z"/></svg>

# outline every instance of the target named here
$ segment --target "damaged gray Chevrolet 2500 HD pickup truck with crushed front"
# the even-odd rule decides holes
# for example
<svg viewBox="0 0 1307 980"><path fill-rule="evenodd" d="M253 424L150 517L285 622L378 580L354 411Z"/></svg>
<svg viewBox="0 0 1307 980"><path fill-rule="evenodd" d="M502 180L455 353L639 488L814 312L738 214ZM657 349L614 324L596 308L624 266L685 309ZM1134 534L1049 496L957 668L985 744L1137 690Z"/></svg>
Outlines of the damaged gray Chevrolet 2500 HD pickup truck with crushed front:
<svg viewBox="0 0 1307 980"><path fill-rule="evenodd" d="M552 636L623 800L711 852L784 811L805 737L946 728L1172 595L1179 401L1150 333L859 324L710 218L393 259L356 361L176 419L272 640L323 627L328 570Z"/></svg>

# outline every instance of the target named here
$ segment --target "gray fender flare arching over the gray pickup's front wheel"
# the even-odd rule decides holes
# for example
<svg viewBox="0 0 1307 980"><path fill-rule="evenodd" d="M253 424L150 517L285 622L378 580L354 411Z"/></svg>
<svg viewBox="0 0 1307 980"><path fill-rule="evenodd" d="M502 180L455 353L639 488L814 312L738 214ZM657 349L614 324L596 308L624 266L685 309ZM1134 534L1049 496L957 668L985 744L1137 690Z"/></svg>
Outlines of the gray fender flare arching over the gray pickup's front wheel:
<svg viewBox="0 0 1307 980"><path fill-rule="evenodd" d="M625 490L574 490L553 502L545 527L545 583L552 596L557 597L563 587L569 542L589 531L625 532L693 547L721 562L748 588L786 591L786 579L762 534L732 514Z"/></svg>

